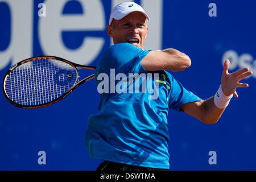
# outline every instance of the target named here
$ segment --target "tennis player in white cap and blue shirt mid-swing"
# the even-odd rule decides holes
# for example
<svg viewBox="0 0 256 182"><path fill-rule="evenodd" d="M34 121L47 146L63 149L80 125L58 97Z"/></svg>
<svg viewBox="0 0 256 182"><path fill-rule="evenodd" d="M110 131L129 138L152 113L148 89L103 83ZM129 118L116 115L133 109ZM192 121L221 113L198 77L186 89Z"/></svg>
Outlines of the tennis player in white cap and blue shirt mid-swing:
<svg viewBox="0 0 256 182"><path fill-rule="evenodd" d="M98 114L90 115L85 145L92 159L104 160L98 171L168 170L168 109L183 111L204 123L216 123L230 99L238 97L237 88L246 88L241 80L252 74L248 68L228 73L225 61L221 84L216 94L202 100L185 89L171 72L183 71L191 60L176 49L144 50L148 15L134 2L114 7L108 35L114 45L105 51L96 69L98 76L111 70L123 73L158 73L152 80L158 83L158 98L148 99L152 93L102 93ZM148 81L148 80L147 80Z"/></svg>

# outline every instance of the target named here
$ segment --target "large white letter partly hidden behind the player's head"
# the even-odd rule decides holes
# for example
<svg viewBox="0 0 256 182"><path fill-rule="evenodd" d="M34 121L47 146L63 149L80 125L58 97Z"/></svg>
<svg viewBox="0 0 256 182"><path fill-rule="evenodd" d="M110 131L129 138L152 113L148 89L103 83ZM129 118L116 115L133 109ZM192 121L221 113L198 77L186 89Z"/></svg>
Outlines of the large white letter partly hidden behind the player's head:
<svg viewBox="0 0 256 182"><path fill-rule="evenodd" d="M112 9L119 3L126 0L112 0ZM145 40L144 49L162 50L162 21L163 21L163 0L141 0L141 6L150 16L148 21L148 34ZM113 41L111 42L113 44Z"/></svg>

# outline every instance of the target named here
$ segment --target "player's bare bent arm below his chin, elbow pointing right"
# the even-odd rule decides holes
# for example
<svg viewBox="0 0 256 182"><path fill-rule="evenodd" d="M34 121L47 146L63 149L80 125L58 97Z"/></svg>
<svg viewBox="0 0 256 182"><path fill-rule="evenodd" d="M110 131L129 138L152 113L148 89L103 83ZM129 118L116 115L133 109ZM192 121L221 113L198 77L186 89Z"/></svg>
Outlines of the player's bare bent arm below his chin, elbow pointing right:
<svg viewBox="0 0 256 182"><path fill-rule="evenodd" d="M141 65L147 71L169 70L179 72L190 67L191 60L185 53L170 48L163 51L149 52L141 61Z"/></svg>

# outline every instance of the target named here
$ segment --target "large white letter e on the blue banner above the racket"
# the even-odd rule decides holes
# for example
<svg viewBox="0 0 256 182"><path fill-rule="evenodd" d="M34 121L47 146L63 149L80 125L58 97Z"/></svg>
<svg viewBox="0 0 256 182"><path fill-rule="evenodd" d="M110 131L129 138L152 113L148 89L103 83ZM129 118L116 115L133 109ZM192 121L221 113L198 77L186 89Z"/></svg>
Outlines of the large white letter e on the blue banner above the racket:
<svg viewBox="0 0 256 182"><path fill-rule="evenodd" d="M45 1L47 17L39 19L39 40L46 55L58 55L79 64L88 65L101 52L104 38L86 37L82 45L71 50L64 46L62 31L104 31L104 8L100 0L80 0L83 14L62 15L61 12L68 0Z"/></svg>

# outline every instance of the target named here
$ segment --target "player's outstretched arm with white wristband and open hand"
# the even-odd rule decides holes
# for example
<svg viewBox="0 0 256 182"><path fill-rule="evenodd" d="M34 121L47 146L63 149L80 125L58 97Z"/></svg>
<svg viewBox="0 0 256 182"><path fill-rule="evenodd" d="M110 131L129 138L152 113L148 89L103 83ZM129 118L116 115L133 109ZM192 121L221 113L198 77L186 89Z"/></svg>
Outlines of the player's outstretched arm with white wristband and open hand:
<svg viewBox="0 0 256 182"><path fill-rule="evenodd" d="M221 86L215 96L208 100L184 104L181 109L204 123L216 123L229 104L231 97L234 95L238 98L236 89L249 86L240 81L253 74L249 68L243 68L233 73L229 73L228 68L229 60L226 60L221 76Z"/></svg>

